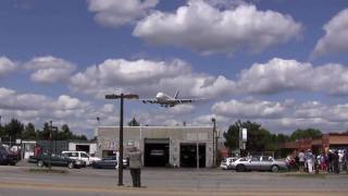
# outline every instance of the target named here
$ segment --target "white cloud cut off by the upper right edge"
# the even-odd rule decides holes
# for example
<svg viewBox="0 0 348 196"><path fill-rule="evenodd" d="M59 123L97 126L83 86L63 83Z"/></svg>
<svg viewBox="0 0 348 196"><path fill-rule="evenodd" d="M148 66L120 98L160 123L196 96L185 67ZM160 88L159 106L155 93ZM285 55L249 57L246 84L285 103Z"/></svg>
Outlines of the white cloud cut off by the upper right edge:
<svg viewBox="0 0 348 196"><path fill-rule="evenodd" d="M348 51L348 9L324 25L325 35L316 42L312 57Z"/></svg>

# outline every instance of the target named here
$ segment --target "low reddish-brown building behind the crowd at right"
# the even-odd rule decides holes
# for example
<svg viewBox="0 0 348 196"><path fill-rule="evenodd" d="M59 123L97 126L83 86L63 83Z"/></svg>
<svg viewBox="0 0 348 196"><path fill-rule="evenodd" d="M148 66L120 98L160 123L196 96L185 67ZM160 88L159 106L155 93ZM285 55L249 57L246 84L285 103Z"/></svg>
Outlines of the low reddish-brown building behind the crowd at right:
<svg viewBox="0 0 348 196"><path fill-rule="evenodd" d="M323 134L319 138L306 138L284 143L279 145L279 148L286 152L311 149L314 154L319 154L324 150L327 151L328 149L348 149L348 134Z"/></svg>

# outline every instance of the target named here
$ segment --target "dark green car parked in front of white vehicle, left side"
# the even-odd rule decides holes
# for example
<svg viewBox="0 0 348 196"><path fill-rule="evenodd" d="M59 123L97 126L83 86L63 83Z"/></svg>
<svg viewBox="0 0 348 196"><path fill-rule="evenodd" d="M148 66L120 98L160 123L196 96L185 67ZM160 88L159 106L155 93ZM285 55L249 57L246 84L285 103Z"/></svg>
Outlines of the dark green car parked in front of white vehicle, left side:
<svg viewBox="0 0 348 196"><path fill-rule="evenodd" d="M80 169L83 167L86 167L86 162L83 160L74 160L70 159L66 155L51 155L51 158L49 158L48 154L41 154L40 156L36 157L37 166L38 167L48 167L49 162L53 167L67 167L69 169L76 168Z"/></svg>

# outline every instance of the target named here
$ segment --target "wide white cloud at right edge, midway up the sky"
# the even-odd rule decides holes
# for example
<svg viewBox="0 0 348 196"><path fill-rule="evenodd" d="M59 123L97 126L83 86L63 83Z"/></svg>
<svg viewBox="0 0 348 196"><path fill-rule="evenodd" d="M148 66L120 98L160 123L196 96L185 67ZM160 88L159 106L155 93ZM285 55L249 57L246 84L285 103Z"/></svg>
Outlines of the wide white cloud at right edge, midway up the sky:
<svg viewBox="0 0 348 196"><path fill-rule="evenodd" d="M313 66L296 60L272 59L241 71L236 86L241 93L312 90L348 95L348 69L340 64Z"/></svg>

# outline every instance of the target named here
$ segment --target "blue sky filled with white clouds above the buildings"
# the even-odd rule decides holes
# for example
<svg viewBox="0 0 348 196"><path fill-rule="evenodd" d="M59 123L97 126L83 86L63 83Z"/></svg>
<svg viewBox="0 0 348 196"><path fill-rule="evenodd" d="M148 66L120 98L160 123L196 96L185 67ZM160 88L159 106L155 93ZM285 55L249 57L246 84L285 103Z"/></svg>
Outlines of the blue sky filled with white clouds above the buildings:
<svg viewBox="0 0 348 196"><path fill-rule="evenodd" d="M107 94L207 98L125 101L125 122L272 133L348 130L346 0L2 0L0 115L94 136L119 125ZM97 118L100 121L97 121Z"/></svg>

